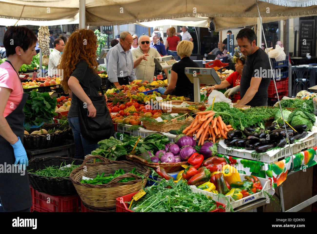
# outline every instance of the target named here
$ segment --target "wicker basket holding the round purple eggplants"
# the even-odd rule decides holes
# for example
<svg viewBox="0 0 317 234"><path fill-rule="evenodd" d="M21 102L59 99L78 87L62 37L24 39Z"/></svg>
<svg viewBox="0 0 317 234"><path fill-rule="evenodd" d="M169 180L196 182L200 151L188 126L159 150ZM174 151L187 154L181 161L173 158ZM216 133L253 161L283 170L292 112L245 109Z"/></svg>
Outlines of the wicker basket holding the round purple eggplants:
<svg viewBox="0 0 317 234"><path fill-rule="evenodd" d="M178 172L181 170L184 170L183 165L189 165L187 161L184 162L178 162L178 163L149 163L145 159L140 158L136 155L126 155L126 159L141 163L145 166L151 167L151 168L157 168L158 166L163 167L166 172Z"/></svg>

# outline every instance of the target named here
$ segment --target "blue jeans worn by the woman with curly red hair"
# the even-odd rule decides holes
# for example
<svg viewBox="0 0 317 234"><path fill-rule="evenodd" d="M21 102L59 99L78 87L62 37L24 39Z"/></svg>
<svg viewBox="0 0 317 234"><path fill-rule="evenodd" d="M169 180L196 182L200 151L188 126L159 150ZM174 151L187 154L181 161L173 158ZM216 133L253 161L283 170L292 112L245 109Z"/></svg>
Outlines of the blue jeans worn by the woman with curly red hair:
<svg viewBox="0 0 317 234"><path fill-rule="evenodd" d="M73 130L75 142L75 159L84 159L87 154L97 149L99 145L97 142L89 141L82 137L78 118L68 118L69 126Z"/></svg>

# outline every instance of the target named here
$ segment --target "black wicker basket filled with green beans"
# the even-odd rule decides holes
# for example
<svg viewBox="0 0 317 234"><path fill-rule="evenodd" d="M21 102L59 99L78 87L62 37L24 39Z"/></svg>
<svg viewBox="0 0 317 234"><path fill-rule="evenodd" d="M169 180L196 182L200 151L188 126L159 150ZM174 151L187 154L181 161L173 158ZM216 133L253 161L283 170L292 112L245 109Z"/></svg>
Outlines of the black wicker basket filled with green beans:
<svg viewBox="0 0 317 234"><path fill-rule="evenodd" d="M45 157L45 158L35 158L29 161L29 166L27 170L33 169L32 172L36 172L39 169L44 169L46 166L60 166L62 162L66 161L67 164L81 165L84 160L73 159L67 157ZM38 176L31 172L28 172L30 185L32 188L39 192L44 192L54 196L57 195L70 195L75 194L76 189L69 177L45 177Z"/></svg>

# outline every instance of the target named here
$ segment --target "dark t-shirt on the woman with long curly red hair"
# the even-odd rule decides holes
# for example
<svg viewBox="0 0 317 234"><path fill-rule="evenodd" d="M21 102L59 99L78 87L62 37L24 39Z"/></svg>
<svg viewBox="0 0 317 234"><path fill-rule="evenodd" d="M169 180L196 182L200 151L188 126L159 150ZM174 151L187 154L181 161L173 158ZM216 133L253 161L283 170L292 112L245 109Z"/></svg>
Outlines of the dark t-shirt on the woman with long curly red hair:
<svg viewBox="0 0 317 234"><path fill-rule="evenodd" d="M98 90L101 86L101 78L91 68L85 60L81 60L77 63L72 75L76 77L81 85L81 88L87 95L99 96ZM78 117L77 96L73 93L72 105L70 105L67 117Z"/></svg>

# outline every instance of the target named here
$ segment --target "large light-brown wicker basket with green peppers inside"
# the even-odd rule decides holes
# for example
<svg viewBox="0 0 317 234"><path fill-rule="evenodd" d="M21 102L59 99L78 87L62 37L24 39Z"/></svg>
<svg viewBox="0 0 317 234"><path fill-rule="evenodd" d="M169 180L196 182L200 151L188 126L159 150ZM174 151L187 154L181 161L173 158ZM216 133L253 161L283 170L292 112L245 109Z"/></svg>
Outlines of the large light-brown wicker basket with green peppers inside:
<svg viewBox="0 0 317 234"><path fill-rule="evenodd" d="M86 164L90 159L94 158L100 159L103 162ZM136 168L137 172L143 174L144 177L137 176L133 173L126 173L114 178L104 185L82 184L80 182L82 176L95 178L98 175L98 172L99 174L105 172L105 175L108 175L114 174L115 170L119 169L129 172L133 170L133 167ZM99 155L94 155L87 157L80 167L75 168L70 173L70 180L73 182L82 202L88 208L98 211L111 211L116 205L116 198L138 192L142 187L145 187L150 171L150 168L139 163L130 161L111 161ZM134 177L135 180L118 183L119 180L126 177Z"/></svg>

